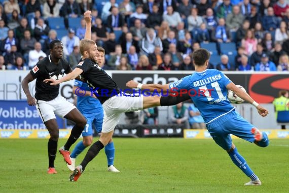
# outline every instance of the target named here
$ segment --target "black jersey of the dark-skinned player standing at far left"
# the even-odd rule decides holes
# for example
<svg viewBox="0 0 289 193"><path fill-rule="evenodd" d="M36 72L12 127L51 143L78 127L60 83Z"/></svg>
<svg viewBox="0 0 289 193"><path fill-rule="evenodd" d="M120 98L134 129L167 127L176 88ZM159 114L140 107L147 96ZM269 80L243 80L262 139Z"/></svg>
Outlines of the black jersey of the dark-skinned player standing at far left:
<svg viewBox="0 0 289 193"><path fill-rule="evenodd" d="M43 80L52 78L60 79L64 73L68 74L71 70L67 61L61 58L56 65L51 61L51 56L43 58L37 62L35 67L31 69L30 74L36 78L35 84L35 99L42 101L51 101L58 96L59 85L52 86L49 83L43 82Z"/></svg>

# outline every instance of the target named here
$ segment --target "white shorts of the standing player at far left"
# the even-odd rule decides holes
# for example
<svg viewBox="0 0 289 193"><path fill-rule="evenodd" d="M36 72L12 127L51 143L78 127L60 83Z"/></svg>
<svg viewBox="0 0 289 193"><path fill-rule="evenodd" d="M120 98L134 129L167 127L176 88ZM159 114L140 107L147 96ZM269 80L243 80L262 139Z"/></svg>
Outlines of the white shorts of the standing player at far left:
<svg viewBox="0 0 289 193"><path fill-rule="evenodd" d="M55 114L63 118L75 108L74 104L68 102L64 97L61 97L60 94L51 101L37 100L36 103L36 109L43 122L55 119Z"/></svg>

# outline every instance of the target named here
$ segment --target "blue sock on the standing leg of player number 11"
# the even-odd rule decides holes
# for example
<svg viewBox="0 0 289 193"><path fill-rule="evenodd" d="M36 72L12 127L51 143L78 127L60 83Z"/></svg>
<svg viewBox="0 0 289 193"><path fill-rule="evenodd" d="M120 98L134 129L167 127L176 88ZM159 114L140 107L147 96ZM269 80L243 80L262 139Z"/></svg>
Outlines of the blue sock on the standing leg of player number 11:
<svg viewBox="0 0 289 193"><path fill-rule="evenodd" d="M250 167L247 165L246 160L242 155L239 154L237 148L231 152L228 153L231 157L233 163L240 168L248 177L250 177L254 172L250 169Z"/></svg>

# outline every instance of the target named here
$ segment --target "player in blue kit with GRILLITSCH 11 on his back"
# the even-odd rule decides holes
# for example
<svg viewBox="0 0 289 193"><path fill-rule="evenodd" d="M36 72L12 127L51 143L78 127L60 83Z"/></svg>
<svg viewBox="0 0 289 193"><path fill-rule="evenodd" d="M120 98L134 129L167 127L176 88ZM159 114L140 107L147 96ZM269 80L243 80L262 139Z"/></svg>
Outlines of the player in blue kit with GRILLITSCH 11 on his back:
<svg viewBox="0 0 289 193"><path fill-rule="evenodd" d="M261 185L257 175L250 169L246 160L239 154L232 143L230 134L242 138L248 142L254 142L260 147L269 145L266 133L261 133L255 126L241 117L227 98L227 89L232 90L243 100L254 105L258 113L264 117L268 111L255 102L246 92L236 87L231 80L218 70L207 70L210 53L205 49L193 52L193 62L196 73L183 79L167 84L137 84L134 81L127 83L128 87L167 90L171 92L187 92L199 109L208 132L213 140L226 150L233 163L242 170L251 180L244 185ZM180 96L180 95L179 95ZM174 97L178 98L178 97ZM161 106L170 105L172 98L161 98Z"/></svg>

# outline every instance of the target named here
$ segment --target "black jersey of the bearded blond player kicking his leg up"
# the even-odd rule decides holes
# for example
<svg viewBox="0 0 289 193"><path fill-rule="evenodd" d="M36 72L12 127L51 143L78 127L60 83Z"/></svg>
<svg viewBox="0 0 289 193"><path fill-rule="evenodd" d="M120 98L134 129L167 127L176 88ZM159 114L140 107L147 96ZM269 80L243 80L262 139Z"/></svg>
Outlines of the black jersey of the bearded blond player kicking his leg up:
<svg viewBox="0 0 289 193"><path fill-rule="evenodd" d="M83 70L81 77L87 81L101 104L120 93L117 83L94 61L86 58L76 68Z"/></svg>

